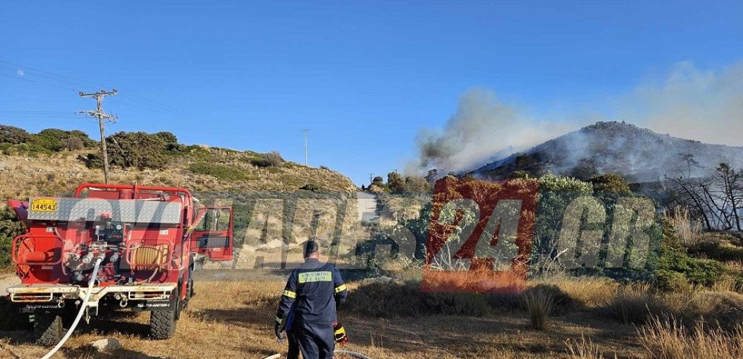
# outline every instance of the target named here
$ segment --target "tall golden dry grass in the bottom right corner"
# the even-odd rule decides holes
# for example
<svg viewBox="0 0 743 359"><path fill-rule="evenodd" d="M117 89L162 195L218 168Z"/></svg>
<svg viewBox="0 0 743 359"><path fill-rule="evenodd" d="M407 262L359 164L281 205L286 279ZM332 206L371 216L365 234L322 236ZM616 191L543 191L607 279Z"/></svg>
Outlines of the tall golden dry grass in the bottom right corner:
<svg viewBox="0 0 743 359"><path fill-rule="evenodd" d="M647 358L737 359L743 358L743 332L724 332L698 323L688 331L674 319L656 317L638 329Z"/></svg>

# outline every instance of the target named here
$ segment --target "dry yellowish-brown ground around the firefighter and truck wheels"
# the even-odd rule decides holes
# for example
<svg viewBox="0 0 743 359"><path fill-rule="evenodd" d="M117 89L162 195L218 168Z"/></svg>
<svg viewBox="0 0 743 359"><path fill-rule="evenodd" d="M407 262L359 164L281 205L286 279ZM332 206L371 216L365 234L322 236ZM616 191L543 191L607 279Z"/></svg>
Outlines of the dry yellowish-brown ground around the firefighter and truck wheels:
<svg viewBox="0 0 743 359"><path fill-rule="evenodd" d="M351 286L349 300L354 300ZM170 340L149 340L149 314L124 312L91 320L68 340L55 358L265 358L285 353L276 343L273 317L283 289L279 280L198 282L197 296ZM529 329L523 311L493 312L485 317L421 315L383 319L341 314L351 342L347 348L375 359L392 358L569 358L565 340L591 337L603 352L617 358L641 358L632 325L568 312L553 318L545 331ZM88 343L104 337L122 341L123 349L101 354ZM0 358L41 358L30 332L0 328ZM338 357L341 358L341 357Z"/></svg>

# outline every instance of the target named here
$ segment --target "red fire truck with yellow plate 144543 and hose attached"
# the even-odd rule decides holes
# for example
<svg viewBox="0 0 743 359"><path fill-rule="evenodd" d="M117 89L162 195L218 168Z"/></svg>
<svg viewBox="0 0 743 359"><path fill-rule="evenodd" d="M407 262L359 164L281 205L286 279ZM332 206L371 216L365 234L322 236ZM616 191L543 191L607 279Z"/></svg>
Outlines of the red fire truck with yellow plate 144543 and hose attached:
<svg viewBox="0 0 743 359"><path fill-rule="evenodd" d="M232 209L199 206L185 188L85 183L72 197L9 204L25 234L11 251L22 283L7 292L33 315L43 345L74 314L103 307L149 311L149 335L171 337L194 294L197 257L233 257Z"/></svg>

